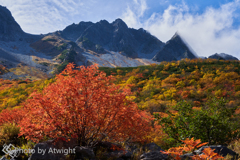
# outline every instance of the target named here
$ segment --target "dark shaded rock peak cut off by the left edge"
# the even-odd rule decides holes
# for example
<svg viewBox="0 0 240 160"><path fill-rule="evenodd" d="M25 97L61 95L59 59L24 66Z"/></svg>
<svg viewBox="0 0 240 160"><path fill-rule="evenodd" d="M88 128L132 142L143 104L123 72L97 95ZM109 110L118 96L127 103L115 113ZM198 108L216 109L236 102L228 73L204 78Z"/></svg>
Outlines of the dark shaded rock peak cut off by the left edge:
<svg viewBox="0 0 240 160"><path fill-rule="evenodd" d="M23 30L14 20L11 12L0 5L0 40L14 41L23 35Z"/></svg>

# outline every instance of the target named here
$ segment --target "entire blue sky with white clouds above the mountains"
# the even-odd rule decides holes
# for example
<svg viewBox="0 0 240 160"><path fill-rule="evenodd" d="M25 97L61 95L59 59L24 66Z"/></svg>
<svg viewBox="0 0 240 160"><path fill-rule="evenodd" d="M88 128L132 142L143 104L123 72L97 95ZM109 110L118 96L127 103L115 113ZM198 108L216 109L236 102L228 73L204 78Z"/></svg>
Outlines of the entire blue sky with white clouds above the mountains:
<svg viewBox="0 0 240 160"><path fill-rule="evenodd" d="M0 0L25 32L45 34L80 21L122 18L161 41L178 32L199 56L240 58L240 0Z"/></svg>

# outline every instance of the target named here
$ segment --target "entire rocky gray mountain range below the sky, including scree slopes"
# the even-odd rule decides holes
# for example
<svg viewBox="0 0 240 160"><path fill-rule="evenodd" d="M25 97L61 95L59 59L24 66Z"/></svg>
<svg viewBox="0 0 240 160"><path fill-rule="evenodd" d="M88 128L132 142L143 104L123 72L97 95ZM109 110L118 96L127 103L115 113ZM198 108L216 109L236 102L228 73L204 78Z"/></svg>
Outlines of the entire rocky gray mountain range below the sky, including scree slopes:
<svg viewBox="0 0 240 160"><path fill-rule="evenodd" d="M143 28L129 28L123 20L116 19L112 23L73 23L62 31L32 35L21 29L6 7L0 6L0 64L10 72L0 78L51 76L69 62L78 66L97 63L105 67L136 67L183 58L199 57L179 33L163 43ZM224 53L209 58L238 60Z"/></svg>

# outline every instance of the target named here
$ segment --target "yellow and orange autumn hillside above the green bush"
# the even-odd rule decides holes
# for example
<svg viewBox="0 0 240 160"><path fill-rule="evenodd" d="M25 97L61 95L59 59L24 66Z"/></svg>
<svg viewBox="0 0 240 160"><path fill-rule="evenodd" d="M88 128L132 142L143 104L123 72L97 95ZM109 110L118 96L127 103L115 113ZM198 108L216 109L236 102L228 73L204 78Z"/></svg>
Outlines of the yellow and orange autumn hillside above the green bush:
<svg viewBox="0 0 240 160"><path fill-rule="evenodd" d="M209 99L225 98L228 106L239 106L240 63L214 59L162 62L160 65L100 68L116 77L117 84L131 87L139 108L153 112L186 100L195 107Z"/></svg>

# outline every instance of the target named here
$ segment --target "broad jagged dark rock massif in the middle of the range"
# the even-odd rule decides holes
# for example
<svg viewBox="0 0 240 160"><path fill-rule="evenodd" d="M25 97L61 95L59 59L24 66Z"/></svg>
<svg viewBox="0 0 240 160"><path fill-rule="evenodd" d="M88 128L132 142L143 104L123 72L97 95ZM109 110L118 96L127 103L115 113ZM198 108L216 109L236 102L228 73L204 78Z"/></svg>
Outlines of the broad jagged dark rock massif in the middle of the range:
<svg viewBox="0 0 240 160"><path fill-rule="evenodd" d="M121 19L112 23L101 20L97 23L72 24L66 27L61 35L85 49L94 50L95 47L96 52L103 49L119 51L132 58L151 59L164 45L144 29L128 28Z"/></svg>

